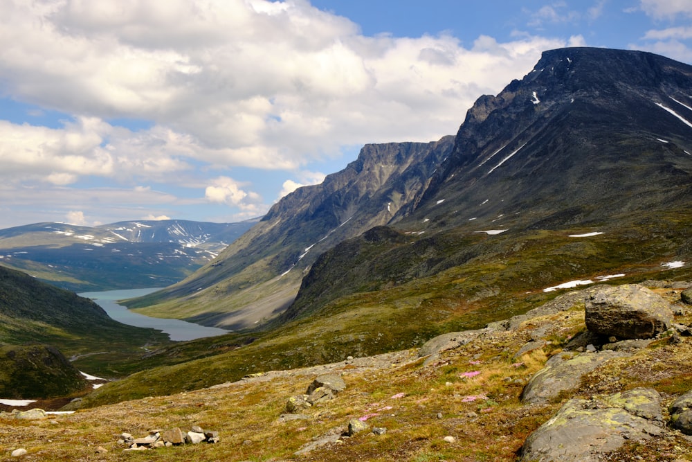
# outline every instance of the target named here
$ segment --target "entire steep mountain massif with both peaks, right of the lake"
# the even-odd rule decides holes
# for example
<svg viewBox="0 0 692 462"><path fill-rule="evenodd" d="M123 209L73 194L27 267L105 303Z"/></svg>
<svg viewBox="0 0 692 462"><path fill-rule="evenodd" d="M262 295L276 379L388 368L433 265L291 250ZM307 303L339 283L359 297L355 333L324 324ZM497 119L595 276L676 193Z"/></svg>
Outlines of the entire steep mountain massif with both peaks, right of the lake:
<svg viewBox="0 0 692 462"><path fill-rule="evenodd" d="M692 67L664 57L547 51L481 96L453 145L366 146L136 305L239 328L417 296L435 312L421 319L448 322L513 314L515 296L570 279L646 277L692 249L690 95Z"/></svg>

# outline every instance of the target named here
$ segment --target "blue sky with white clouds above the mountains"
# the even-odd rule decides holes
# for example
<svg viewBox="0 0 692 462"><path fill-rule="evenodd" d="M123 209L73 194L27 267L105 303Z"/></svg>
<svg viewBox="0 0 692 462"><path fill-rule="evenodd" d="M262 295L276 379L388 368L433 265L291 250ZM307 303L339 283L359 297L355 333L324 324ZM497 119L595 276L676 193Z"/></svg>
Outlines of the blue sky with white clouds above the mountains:
<svg viewBox="0 0 692 462"><path fill-rule="evenodd" d="M239 222L542 51L692 64L692 1L3 0L0 44L0 229Z"/></svg>

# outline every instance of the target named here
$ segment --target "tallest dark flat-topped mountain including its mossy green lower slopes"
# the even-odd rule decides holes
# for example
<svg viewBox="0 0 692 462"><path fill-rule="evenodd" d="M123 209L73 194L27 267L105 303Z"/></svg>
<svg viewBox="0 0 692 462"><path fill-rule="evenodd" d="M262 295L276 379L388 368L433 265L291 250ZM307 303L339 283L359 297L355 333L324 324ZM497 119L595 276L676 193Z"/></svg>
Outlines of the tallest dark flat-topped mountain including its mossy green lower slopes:
<svg viewBox="0 0 692 462"><path fill-rule="evenodd" d="M544 53L523 80L468 111L417 208L379 232L392 244L365 234L328 251L281 320L450 271L475 299L689 258L689 95L692 67L664 57ZM569 242L589 231L605 236ZM420 237L407 242L412 233ZM484 265L493 274L479 274Z"/></svg>

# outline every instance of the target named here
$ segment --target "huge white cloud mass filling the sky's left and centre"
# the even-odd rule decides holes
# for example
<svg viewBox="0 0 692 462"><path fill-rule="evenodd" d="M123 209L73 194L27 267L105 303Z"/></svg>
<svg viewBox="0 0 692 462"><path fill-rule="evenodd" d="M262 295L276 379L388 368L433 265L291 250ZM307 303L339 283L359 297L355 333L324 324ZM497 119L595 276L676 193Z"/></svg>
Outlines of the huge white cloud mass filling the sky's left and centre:
<svg viewBox="0 0 692 462"><path fill-rule="evenodd" d="M264 0L8 1L0 42L13 44L0 49L7 94L75 116L63 129L5 124L22 158L10 167L44 178L160 178L193 160L292 170L345 144L432 141L565 45L363 37L306 1Z"/></svg>

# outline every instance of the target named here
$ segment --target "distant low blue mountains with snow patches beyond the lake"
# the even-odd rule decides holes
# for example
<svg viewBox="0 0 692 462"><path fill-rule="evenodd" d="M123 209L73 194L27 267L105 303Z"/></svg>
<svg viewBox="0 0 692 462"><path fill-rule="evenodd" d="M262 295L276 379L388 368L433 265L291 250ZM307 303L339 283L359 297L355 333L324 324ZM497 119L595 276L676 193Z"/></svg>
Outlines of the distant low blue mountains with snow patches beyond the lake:
<svg viewBox="0 0 692 462"><path fill-rule="evenodd" d="M253 224L28 224L0 230L0 264L78 292L165 287L215 258Z"/></svg>

